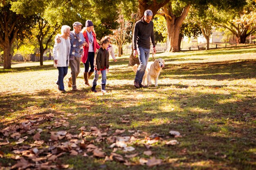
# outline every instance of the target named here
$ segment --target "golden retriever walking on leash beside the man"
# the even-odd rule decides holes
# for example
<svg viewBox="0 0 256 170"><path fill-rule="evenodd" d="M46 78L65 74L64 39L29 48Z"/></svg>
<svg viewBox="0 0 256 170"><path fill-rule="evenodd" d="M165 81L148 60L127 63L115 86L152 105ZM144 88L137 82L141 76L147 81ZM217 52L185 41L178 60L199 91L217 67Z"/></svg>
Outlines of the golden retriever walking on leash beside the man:
<svg viewBox="0 0 256 170"><path fill-rule="evenodd" d="M164 60L162 58L158 58L154 62L148 62L142 84L145 86L145 81L147 80L147 86L150 86L152 84L151 79L154 79L155 87L157 87L158 76L162 68L164 68ZM135 64L132 67L132 70L136 73L138 70L138 65Z"/></svg>

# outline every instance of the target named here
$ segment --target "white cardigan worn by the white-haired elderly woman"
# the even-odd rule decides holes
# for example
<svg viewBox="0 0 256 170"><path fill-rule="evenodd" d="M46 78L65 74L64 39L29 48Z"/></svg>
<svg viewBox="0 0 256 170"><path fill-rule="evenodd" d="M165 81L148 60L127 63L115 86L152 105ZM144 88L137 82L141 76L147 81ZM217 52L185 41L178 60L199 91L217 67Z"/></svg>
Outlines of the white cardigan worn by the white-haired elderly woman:
<svg viewBox="0 0 256 170"><path fill-rule="evenodd" d="M67 57L67 46L64 38L61 38L61 42L55 42L53 47L53 58L54 60L58 60L58 64L54 65L56 67L66 67L69 66L70 57ZM70 37L67 37L68 45L70 46ZM68 51L68 55L70 54L70 50Z"/></svg>

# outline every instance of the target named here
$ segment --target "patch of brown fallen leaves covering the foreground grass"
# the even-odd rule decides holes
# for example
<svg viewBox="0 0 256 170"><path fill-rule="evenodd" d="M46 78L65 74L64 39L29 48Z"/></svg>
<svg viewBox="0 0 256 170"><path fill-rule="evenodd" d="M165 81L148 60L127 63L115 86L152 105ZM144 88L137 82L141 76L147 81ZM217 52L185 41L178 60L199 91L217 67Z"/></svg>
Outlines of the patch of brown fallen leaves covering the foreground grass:
<svg viewBox="0 0 256 170"><path fill-rule="evenodd" d="M139 130L112 130L105 124L99 125L101 129L85 126L77 128L70 126L67 121L73 116L75 114L55 117L52 113L40 117L28 116L18 124L12 124L0 130L2 136L0 146L10 146L11 159L16 160L16 164L5 168L19 170L68 168L69 165L63 164L59 159L64 155L81 155L104 159L104 161L117 161L126 166L146 164L151 167L164 163L164 160L157 159L154 152L150 150L153 145L165 144L168 147L179 143L175 139L166 141L158 134L150 135ZM44 126L45 122L50 126ZM38 128L39 126L44 128ZM58 128L67 130L58 131ZM170 134L166 135L166 139L170 138L170 135L181 137L179 132L171 130ZM145 150L138 151L137 146L144 146ZM0 152L0 157L5 154ZM144 155L150 158L146 159ZM139 161L131 161L133 157L139 157Z"/></svg>

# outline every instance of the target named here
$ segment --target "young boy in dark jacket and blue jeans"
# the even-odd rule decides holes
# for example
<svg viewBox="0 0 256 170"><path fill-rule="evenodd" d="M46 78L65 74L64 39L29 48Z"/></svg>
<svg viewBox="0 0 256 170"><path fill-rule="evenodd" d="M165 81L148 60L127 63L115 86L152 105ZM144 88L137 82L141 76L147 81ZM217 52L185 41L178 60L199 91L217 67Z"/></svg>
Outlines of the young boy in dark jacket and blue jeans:
<svg viewBox="0 0 256 170"><path fill-rule="evenodd" d="M106 50L108 48L109 41L106 38L101 39L101 48L96 51L94 55L94 79L92 82L92 88L91 90L96 93L96 86L97 86L97 80L99 79L99 75L101 76L101 92L106 93L105 90L106 86L106 72L108 73L108 51Z"/></svg>

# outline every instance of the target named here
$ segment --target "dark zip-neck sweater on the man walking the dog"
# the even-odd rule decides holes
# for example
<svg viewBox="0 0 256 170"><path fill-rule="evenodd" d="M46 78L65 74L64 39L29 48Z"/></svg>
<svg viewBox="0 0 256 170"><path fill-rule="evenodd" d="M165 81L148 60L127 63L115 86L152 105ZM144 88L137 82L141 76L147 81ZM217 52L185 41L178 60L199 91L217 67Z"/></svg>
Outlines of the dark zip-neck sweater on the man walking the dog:
<svg viewBox="0 0 256 170"><path fill-rule="evenodd" d="M141 20L138 20L134 26L132 36L133 49L137 49L137 47L150 49L150 38L153 47L155 47L154 23L153 21L147 23L141 18Z"/></svg>

